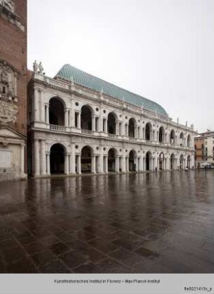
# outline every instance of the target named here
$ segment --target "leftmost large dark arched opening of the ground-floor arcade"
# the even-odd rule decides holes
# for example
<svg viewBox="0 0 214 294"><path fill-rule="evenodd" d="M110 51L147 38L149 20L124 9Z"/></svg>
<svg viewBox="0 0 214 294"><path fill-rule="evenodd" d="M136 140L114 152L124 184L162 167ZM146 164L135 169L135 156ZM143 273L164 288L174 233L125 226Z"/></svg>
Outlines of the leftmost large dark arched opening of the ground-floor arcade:
<svg viewBox="0 0 214 294"><path fill-rule="evenodd" d="M52 145L50 148L50 173L64 173L64 147L61 144Z"/></svg>

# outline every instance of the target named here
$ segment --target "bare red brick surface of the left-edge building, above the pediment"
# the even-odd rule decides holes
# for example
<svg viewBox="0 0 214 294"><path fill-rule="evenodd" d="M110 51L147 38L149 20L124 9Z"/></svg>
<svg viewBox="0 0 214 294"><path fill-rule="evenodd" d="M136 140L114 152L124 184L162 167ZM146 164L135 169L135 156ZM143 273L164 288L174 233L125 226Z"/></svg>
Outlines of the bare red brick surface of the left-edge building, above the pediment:
<svg viewBox="0 0 214 294"><path fill-rule="evenodd" d="M0 13L0 60L5 60L18 71L18 114L8 126L27 135L27 0L16 0L15 13L20 17L24 32Z"/></svg>

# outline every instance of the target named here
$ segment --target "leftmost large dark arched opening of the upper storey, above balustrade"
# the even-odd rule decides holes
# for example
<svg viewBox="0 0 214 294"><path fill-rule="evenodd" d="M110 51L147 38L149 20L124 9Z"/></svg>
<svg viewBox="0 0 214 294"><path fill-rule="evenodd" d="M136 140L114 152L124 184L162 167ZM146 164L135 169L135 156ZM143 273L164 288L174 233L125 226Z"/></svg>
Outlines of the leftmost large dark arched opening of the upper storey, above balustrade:
<svg viewBox="0 0 214 294"><path fill-rule="evenodd" d="M51 98L49 101L49 123L64 126L64 104L59 98Z"/></svg>

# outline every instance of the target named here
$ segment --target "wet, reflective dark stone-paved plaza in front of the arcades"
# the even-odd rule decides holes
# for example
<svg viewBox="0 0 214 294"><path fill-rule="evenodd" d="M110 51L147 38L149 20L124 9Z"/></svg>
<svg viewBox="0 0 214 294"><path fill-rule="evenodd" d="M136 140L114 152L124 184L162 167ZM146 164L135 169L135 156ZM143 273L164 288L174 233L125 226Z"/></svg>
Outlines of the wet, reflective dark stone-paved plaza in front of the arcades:
<svg viewBox="0 0 214 294"><path fill-rule="evenodd" d="M0 182L0 273L214 273L214 171Z"/></svg>

